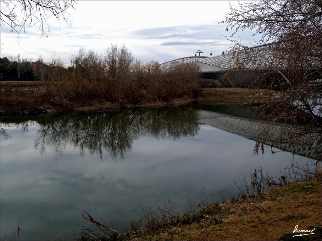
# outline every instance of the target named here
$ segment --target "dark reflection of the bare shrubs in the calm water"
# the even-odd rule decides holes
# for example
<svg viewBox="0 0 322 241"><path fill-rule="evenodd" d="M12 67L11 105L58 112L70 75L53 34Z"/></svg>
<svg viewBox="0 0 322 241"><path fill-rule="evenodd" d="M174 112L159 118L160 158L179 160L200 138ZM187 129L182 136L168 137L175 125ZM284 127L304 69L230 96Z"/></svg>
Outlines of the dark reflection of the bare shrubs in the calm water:
<svg viewBox="0 0 322 241"><path fill-rule="evenodd" d="M81 156L87 150L90 155L102 158L103 151L108 150L113 158L124 158L139 136L178 139L193 137L199 128L197 111L187 106L41 115L34 120L40 125L35 149L43 155L50 147L56 158L65 152L67 145L78 148ZM26 130L28 126L24 127Z"/></svg>

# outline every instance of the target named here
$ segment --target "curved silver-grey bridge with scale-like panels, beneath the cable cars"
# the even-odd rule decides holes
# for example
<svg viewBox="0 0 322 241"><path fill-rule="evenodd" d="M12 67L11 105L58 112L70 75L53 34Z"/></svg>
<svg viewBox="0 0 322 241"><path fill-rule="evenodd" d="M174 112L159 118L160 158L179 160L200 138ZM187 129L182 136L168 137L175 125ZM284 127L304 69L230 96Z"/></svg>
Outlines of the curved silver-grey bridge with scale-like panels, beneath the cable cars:
<svg viewBox="0 0 322 241"><path fill-rule="evenodd" d="M269 43L241 50L238 54L227 53L213 57L193 56L179 58L162 63L160 67L167 69L171 64L186 65L195 63L200 67L203 78L220 80L220 76L223 73L231 69L236 69L236 62L242 62L247 58L247 63L243 65L245 78L241 83L241 85L246 86L250 81L259 76L263 69L268 67L268 60L270 63L274 62L274 51L272 44Z"/></svg>

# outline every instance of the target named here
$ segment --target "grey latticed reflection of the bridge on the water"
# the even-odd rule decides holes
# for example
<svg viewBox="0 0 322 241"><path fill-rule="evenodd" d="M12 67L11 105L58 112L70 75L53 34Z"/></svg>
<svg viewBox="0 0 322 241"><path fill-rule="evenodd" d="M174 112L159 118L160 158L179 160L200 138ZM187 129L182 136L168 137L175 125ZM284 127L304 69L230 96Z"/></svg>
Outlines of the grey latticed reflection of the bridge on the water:
<svg viewBox="0 0 322 241"><path fill-rule="evenodd" d="M265 128L261 121L251 121L249 119L234 117L218 112L200 111L200 123L207 124L233 134L256 140L257 135ZM290 133L294 133L299 129L291 128L284 125L272 125L268 132L266 145L276 147L278 149L292 152L300 156L317 158L317 150L321 151L321 137L319 134L306 135L300 140L294 139L290 144L286 141Z"/></svg>

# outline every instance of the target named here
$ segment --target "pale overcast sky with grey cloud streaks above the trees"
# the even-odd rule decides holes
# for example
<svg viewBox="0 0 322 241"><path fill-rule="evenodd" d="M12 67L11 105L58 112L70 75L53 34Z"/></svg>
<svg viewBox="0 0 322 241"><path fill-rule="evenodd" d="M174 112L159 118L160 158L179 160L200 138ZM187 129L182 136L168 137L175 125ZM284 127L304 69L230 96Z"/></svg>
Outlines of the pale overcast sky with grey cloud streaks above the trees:
<svg viewBox="0 0 322 241"><path fill-rule="evenodd" d="M79 1L74 8L68 10L71 25L49 20L54 34L48 38L40 38L39 25L26 27L20 39L3 25L1 57L20 53L21 58L34 61L42 55L50 61L55 51L67 63L80 47L104 53L111 44L124 43L134 58L162 63L197 50L218 55L231 44L222 36L231 30L218 24L230 12L228 1ZM242 39L256 45L251 32L243 32Z"/></svg>

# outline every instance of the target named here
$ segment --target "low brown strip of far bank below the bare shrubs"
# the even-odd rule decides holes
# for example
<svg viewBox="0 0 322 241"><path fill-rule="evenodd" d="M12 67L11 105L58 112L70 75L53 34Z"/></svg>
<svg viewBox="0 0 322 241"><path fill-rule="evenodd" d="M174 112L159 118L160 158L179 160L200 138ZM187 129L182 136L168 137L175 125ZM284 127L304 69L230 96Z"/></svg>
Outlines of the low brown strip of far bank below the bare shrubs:
<svg viewBox="0 0 322 241"><path fill-rule="evenodd" d="M62 89L62 82L22 82L2 81L0 83L0 113L1 114L36 114L56 111L107 111L115 108L153 107L164 105L180 105L192 101L212 101L218 103L254 102L270 99L276 93L267 89L246 88L204 88L198 98L184 96L168 102L147 98L140 104L110 103L99 104L97 101L83 103L81 101L53 101L44 93L46 86Z"/></svg>

